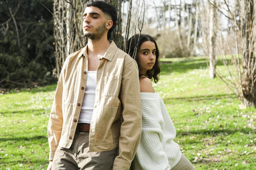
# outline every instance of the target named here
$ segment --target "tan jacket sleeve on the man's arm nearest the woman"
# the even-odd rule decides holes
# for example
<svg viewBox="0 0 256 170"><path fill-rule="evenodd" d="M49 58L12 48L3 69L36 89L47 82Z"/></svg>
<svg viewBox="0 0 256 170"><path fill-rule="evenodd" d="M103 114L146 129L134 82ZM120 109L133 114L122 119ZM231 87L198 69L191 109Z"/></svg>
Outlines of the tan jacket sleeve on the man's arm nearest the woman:
<svg viewBox="0 0 256 170"><path fill-rule="evenodd" d="M139 71L135 61L124 66L120 87L122 119L119 137L119 155L113 170L129 170L140 142L142 117Z"/></svg>

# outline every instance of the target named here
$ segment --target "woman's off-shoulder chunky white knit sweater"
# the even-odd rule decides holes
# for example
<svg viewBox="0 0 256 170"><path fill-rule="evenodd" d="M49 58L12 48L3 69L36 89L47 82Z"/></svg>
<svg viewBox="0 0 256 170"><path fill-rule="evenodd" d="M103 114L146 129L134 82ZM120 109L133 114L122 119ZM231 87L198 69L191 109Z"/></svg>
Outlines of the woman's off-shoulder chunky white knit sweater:
<svg viewBox="0 0 256 170"><path fill-rule="evenodd" d="M161 99L155 93L141 93L142 134L133 160L134 170L170 170L181 158L173 141L176 129Z"/></svg>

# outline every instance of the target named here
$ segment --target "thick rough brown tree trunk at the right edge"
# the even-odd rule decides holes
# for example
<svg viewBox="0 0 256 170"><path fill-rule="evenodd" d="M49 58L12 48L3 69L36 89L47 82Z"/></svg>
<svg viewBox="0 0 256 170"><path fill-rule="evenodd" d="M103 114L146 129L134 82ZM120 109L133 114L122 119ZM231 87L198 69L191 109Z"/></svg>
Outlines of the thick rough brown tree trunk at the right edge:
<svg viewBox="0 0 256 170"><path fill-rule="evenodd" d="M254 20L254 1L241 0L240 1L240 20L241 20L241 50L242 50L242 65L243 65L243 78L242 78L242 91L244 94L244 105L255 106L256 100L256 84L255 78L255 57L254 52L254 38L252 36L252 27L255 25Z"/></svg>

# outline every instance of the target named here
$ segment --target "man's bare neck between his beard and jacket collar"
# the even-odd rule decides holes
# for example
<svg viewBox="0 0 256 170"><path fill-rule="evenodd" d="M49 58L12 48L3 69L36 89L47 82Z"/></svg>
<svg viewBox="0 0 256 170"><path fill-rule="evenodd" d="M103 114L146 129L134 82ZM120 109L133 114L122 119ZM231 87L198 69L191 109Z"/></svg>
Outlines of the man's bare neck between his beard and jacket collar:
<svg viewBox="0 0 256 170"><path fill-rule="evenodd" d="M110 43L108 39L102 38L99 41L92 41L89 39L87 46L87 54L90 56L98 56L99 58L108 50Z"/></svg>

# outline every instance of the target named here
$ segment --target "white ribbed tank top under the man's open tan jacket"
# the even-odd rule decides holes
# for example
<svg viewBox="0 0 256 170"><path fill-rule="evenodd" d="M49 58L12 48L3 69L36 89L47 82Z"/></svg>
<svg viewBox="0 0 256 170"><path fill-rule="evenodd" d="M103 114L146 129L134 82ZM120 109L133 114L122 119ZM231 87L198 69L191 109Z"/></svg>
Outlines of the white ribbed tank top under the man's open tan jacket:
<svg viewBox="0 0 256 170"><path fill-rule="evenodd" d="M87 71L87 82L78 123L91 123L95 100L96 75L97 71Z"/></svg>

